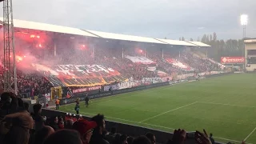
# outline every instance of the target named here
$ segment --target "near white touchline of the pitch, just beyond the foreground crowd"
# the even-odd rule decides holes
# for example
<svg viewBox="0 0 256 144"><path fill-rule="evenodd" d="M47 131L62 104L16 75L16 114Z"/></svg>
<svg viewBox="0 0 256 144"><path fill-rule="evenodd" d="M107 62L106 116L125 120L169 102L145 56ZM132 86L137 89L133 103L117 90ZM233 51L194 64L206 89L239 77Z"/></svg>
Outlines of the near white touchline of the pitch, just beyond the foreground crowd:
<svg viewBox="0 0 256 144"><path fill-rule="evenodd" d="M69 110L69 111L73 111L73 110ZM85 112L81 112L81 113L82 114L89 114L89 115L96 115L96 114L90 114L90 113L85 113ZM134 122L134 123L137 123L137 124L145 124L145 125L148 125L148 126L156 126L156 127L161 127L161 128L164 128L164 129L169 129L169 130L175 130L174 128L171 128L171 127L158 126L158 125L153 125L153 124L144 123L144 122L139 123L139 122L130 121L130 120L122 119L122 118L113 118L113 117L108 117L108 116L106 116L106 118L112 118L112 119L121 120L121 121L124 121L124 122ZM168 131L166 131L166 132L168 132ZM233 139L220 138L220 137L214 137L214 138L218 138L218 139L222 139L222 140L226 140L226 141L230 141L230 142L239 142L239 143L241 143L240 141L236 141L236 140L233 140ZM247 143L247 144L252 144L252 143Z"/></svg>

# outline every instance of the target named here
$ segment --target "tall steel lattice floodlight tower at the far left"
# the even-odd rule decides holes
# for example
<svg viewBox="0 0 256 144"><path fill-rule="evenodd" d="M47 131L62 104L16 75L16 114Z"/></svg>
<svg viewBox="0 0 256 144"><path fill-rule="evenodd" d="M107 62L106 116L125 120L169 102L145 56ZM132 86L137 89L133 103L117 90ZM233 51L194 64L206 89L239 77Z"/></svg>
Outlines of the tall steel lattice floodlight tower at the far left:
<svg viewBox="0 0 256 144"><path fill-rule="evenodd" d="M12 0L3 1L4 90L18 94Z"/></svg>

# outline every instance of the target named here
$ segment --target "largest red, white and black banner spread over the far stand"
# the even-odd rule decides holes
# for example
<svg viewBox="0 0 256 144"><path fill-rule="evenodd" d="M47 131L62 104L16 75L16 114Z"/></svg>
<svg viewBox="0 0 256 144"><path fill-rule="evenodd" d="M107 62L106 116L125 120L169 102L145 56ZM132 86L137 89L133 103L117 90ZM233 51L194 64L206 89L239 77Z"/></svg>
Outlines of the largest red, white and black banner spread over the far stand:
<svg viewBox="0 0 256 144"><path fill-rule="evenodd" d="M54 86L100 86L128 80L117 70L103 65L32 66L45 74Z"/></svg>

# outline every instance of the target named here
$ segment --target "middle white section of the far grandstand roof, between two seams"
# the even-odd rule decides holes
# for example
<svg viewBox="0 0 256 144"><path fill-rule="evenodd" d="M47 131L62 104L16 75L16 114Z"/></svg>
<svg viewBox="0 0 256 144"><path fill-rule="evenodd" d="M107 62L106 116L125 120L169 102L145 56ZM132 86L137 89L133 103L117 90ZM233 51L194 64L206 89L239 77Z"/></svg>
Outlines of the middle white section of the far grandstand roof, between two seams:
<svg viewBox="0 0 256 144"><path fill-rule="evenodd" d="M139 37L134 35L125 35L125 34L106 33L101 31L94 31L94 30L85 30L85 31L88 31L91 34L95 34L102 38L118 39L118 40L124 40L124 41L134 41L134 42L151 42L151 43L166 44L165 42L160 42L154 38L146 38L146 37Z"/></svg>

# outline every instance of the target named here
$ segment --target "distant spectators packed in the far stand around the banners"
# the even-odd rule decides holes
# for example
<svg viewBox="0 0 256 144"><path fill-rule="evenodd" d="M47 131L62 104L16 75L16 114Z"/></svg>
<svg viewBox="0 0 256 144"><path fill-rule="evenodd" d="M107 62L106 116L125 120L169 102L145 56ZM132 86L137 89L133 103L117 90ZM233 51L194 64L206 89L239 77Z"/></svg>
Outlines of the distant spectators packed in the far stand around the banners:
<svg viewBox="0 0 256 144"><path fill-rule="evenodd" d="M82 47L82 49L87 49ZM56 64L78 64L78 65L104 65L118 70L124 77L132 78L134 80L141 80L142 78L158 78L158 71L147 70L149 66L156 66L157 70L161 70L168 74L186 74L194 73L194 70L198 72L205 72L208 70L218 70L218 65L213 62L207 61L203 58L195 57L190 52L182 51L180 54L167 53L160 54L161 52L147 52L147 58L153 60L155 63L151 65L145 65L142 63L131 62L127 58L122 58L121 49L95 49L95 50L75 50L74 54L68 53L69 50L63 51L62 54L57 57L47 57L51 59L51 62ZM130 54L131 56L144 56L144 54L137 54L133 50L125 50L124 56ZM45 58L45 57L44 57ZM166 62L165 58L174 58L179 62L186 63L188 66L193 67L194 70L186 71L172 66L172 64ZM44 60L43 60L44 61ZM0 68L0 74L3 79L3 68ZM23 98L34 98L34 96L40 96L42 94L50 93L52 84L37 71L24 72L18 70L18 94L21 94ZM2 80L3 86L3 80Z"/></svg>

